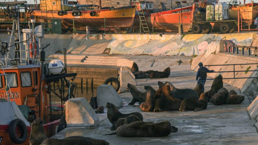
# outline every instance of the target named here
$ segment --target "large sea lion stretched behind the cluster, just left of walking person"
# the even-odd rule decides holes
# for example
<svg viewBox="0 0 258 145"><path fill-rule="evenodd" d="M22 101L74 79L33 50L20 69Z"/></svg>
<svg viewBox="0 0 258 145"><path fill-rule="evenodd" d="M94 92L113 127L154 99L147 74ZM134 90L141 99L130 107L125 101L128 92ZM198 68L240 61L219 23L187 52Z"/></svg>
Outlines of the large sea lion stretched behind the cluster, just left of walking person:
<svg viewBox="0 0 258 145"><path fill-rule="evenodd" d="M179 100L184 100L186 98L199 99L198 93L193 89L178 89L173 86L170 82L165 82L165 85L170 86L171 93L173 96Z"/></svg>

